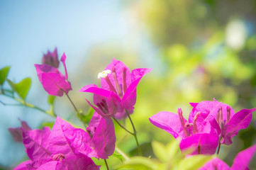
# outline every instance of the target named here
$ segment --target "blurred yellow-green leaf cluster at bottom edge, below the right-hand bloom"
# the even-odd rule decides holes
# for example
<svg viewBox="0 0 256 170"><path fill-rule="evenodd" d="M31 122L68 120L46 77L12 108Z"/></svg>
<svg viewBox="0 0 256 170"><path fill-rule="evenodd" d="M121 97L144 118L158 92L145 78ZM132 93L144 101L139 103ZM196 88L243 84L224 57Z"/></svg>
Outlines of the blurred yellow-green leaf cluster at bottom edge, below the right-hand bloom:
<svg viewBox="0 0 256 170"><path fill-rule="evenodd" d="M157 159L150 157L131 157L116 169L145 169L145 170L196 170L203 166L213 156L208 155L190 155L192 149L181 152L179 142L172 140L167 145L152 141L152 149Z"/></svg>

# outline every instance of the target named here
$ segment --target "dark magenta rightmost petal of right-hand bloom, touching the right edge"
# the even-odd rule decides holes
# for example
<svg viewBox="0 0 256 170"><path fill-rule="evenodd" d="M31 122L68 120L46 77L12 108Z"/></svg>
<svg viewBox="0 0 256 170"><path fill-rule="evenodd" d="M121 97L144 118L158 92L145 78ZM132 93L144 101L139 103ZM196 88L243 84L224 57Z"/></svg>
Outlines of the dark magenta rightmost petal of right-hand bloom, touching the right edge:
<svg viewBox="0 0 256 170"><path fill-rule="evenodd" d="M233 117L230 119L230 122L225 125L222 130L224 144L232 144L233 142L231 138L237 135L240 129L245 129L250 125L250 122L252 120L252 112L254 112L255 110L256 108L243 109L233 115Z"/></svg>

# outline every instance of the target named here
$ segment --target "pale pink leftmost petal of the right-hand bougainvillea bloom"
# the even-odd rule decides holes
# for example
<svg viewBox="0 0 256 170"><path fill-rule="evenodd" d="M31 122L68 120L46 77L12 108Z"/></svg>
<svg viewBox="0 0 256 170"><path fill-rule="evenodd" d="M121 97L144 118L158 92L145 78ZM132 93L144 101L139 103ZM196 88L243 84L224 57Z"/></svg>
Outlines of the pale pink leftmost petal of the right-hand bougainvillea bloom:
<svg viewBox="0 0 256 170"><path fill-rule="evenodd" d="M169 132L174 138L184 137L182 123L180 123L179 115L175 113L159 112L150 117L150 123ZM184 119L184 123L187 123L187 120Z"/></svg>

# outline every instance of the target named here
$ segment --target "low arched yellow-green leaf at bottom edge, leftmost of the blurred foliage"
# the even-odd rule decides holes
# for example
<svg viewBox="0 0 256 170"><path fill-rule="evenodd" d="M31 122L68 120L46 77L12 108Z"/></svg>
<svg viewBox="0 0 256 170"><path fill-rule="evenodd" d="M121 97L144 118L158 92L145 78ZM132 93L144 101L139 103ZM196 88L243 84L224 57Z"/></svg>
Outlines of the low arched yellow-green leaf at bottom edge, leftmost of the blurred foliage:
<svg viewBox="0 0 256 170"><path fill-rule="evenodd" d="M128 159L124 164L121 164L116 169L135 169L135 170L160 170L161 164L148 159L146 157L132 157Z"/></svg>

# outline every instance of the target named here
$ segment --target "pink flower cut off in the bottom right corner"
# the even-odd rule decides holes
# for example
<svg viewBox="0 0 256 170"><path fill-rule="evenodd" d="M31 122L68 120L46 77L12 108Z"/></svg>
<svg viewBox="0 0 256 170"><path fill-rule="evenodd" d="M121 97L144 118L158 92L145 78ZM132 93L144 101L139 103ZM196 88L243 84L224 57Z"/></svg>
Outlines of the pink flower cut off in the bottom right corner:
<svg viewBox="0 0 256 170"><path fill-rule="evenodd" d="M250 164L250 160L256 152L256 145L248 147L239 152L233 161L231 168L221 159L215 158L206 162L199 170L246 170Z"/></svg>

